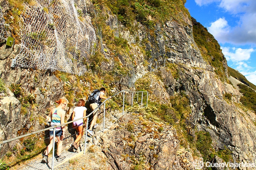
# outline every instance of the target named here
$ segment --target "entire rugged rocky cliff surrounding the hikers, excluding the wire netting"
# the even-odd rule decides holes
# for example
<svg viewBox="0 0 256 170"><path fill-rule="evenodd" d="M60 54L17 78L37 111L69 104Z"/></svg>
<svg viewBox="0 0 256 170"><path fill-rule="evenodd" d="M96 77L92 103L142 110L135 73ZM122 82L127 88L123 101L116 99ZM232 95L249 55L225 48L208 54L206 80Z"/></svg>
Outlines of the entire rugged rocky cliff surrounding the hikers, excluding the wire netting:
<svg viewBox="0 0 256 170"><path fill-rule="evenodd" d="M8 1L0 2L5 9L4 16L9 15ZM177 10L183 6L181 1L175 5ZM155 111L156 116L162 118L158 121L164 124L147 122L143 125L143 121L134 123L138 122L136 118L127 116L119 120L118 127L101 137L98 142L113 169L130 169L129 164L137 167L143 164L144 169L193 169L190 166L194 160L192 153L195 158L221 162L224 158L220 159L217 153L227 150L230 151L230 161L256 163L255 113L239 102L242 94L227 83L227 63L223 54L219 52L221 68L224 68L221 77L216 71L218 67L211 64L214 57L207 60L201 54L193 37L196 22L192 23L187 12L179 11L179 20L170 17L164 22L156 22L153 27L133 20L132 26L136 26L136 30L132 32L127 24L118 22L119 14L115 15L106 4L102 2L96 7L88 1L88 13L92 20L95 19L94 26L98 31L100 55L96 51L89 61L92 72L84 76L11 68L12 59L19 54L19 43L16 41L8 49L5 42L0 43L0 76L6 88L11 89L0 101L0 140L43 129L49 118L47 109L54 106L55 100L66 97L72 107L75 99L86 98L90 90L104 84L110 94L124 88L147 90L152 108L158 105L158 108L168 108L165 113ZM94 9L98 9L98 15ZM13 33L12 29L8 32L9 35ZM33 100L24 105L24 100L17 100L20 97L15 96L11 85L19 85L23 98L30 95ZM226 94L231 94L231 98L227 99ZM185 111L175 107L180 106L182 101L179 99L188 100ZM67 111L70 116L69 108ZM164 114L170 115L164 117ZM166 122L172 126L165 125ZM130 127L124 128L125 124ZM163 129L159 130L160 127ZM200 132L210 135L209 153L200 150ZM8 148L1 149L1 154Z"/></svg>

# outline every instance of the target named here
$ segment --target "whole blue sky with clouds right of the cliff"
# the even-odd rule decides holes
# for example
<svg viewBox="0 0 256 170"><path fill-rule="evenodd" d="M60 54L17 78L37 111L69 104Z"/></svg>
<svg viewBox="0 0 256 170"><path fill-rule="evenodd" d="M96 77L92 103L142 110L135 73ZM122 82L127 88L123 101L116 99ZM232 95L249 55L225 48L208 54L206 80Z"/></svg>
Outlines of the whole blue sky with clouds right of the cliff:
<svg viewBox="0 0 256 170"><path fill-rule="evenodd" d="M185 7L219 42L228 66L256 85L256 0L187 0Z"/></svg>

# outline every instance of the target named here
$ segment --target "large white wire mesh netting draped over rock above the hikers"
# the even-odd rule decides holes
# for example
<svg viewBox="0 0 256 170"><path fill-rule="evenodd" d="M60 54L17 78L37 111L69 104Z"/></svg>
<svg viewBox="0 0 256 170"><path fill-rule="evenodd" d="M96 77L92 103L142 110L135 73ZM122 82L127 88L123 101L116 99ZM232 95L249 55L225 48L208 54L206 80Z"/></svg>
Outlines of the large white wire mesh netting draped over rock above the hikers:
<svg viewBox="0 0 256 170"><path fill-rule="evenodd" d="M21 12L14 66L82 75L96 41L85 0L36 0Z"/></svg>

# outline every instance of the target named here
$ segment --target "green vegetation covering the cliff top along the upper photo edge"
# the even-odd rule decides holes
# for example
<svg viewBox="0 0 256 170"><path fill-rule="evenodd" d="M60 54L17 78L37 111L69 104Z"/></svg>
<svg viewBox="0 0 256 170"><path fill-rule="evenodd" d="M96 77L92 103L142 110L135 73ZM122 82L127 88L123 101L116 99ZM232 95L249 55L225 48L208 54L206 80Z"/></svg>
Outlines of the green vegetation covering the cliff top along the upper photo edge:
<svg viewBox="0 0 256 170"><path fill-rule="evenodd" d="M133 33L136 26L133 21L136 19L141 24L152 28L156 22L164 23L170 18L186 24L182 16L188 10L180 0L109 0L105 4L117 15L118 20L123 23Z"/></svg>

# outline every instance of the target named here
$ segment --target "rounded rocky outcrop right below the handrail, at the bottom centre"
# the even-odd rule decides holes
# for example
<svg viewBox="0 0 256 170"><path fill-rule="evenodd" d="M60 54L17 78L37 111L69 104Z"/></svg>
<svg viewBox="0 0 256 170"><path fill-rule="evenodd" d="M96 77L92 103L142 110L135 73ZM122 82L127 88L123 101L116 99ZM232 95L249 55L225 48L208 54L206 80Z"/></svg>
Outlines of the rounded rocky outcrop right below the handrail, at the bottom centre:
<svg viewBox="0 0 256 170"><path fill-rule="evenodd" d="M138 116L122 116L115 129L99 137L98 144L108 162L116 170L132 169L134 165L143 169L172 169L180 146L176 130Z"/></svg>

